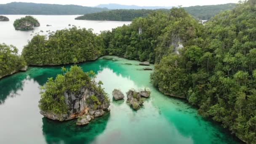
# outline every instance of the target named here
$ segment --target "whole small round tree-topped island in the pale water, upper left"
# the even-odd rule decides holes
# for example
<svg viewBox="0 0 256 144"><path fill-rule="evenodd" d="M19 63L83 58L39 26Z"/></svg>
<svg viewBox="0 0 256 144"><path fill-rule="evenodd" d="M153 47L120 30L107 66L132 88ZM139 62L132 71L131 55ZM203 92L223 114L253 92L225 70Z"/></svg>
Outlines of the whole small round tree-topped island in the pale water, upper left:
<svg viewBox="0 0 256 144"><path fill-rule="evenodd" d="M34 27L39 27L40 23L33 16L25 16L21 19L16 19L13 23L15 29L34 29Z"/></svg>

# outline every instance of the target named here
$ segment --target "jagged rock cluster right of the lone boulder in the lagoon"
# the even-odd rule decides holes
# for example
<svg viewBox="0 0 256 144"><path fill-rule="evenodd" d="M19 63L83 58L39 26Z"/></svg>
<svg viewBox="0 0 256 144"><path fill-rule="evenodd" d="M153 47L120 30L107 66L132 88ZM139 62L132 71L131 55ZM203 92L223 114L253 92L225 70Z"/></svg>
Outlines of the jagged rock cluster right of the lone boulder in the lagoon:
<svg viewBox="0 0 256 144"><path fill-rule="evenodd" d="M134 90L129 90L127 93L127 103L130 104L130 106L135 109L138 110L144 103L144 98L148 98L150 96L150 92L149 91L140 91L140 92L136 92Z"/></svg>

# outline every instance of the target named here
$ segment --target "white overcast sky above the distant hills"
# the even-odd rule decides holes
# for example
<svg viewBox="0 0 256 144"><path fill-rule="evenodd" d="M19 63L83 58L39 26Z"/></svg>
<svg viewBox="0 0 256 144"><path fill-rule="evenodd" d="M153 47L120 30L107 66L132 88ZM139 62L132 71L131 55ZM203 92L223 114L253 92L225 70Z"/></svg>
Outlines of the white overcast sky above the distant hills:
<svg viewBox="0 0 256 144"><path fill-rule="evenodd" d="M224 3L237 3L239 0L0 0L0 3L11 2L73 4L83 6L96 6L99 4L118 3L123 5L139 6L192 6L192 5L216 5Z"/></svg>

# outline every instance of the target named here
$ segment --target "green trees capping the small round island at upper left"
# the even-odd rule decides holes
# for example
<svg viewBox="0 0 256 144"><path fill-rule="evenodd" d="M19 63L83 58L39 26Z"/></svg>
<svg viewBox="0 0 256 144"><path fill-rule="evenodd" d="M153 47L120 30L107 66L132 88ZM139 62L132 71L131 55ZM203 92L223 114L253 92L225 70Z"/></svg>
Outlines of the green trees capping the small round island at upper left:
<svg viewBox="0 0 256 144"><path fill-rule="evenodd" d="M13 23L13 26L15 27L15 29L18 29L25 22L31 23L32 25L34 25L34 27L40 26L37 19L35 19L33 16L25 16L24 18L16 19ZM30 29L30 27L26 26L26 27L24 27L24 29Z"/></svg>

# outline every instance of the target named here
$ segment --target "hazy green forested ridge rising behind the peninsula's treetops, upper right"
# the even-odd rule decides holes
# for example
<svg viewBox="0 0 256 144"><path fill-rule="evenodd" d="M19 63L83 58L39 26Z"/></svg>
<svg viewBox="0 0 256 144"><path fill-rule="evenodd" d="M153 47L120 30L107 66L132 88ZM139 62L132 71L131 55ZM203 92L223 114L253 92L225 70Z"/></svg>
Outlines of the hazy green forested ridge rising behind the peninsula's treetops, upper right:
<svg viewBox="0 0 256 144"><path fill-rule="evenodd" d="M208 20L221 11L232 10L235 8L235 3L228 3L223 5L203 5L184 7L185 11L191 14L195 19ZM169 9L145 10L145 9L120 9L112 11L104 11L99 13L89 13L79 16L75 19L79 20L108 20L108 21L131 21L136 17L145 17L152 11L163 11L168 13Z"/></svg>

